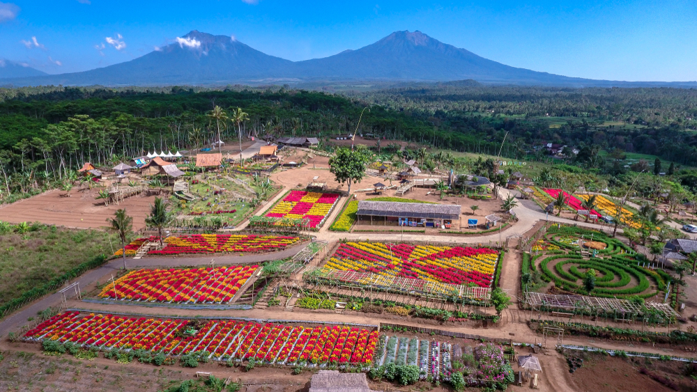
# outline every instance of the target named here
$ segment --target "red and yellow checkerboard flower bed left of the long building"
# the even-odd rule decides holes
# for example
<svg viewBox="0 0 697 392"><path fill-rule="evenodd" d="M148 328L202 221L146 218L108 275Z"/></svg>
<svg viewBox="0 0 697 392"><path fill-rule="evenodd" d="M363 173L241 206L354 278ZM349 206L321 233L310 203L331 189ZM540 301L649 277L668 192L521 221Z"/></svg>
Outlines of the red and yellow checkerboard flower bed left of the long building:
<svg viewBox="0 0 697 392"><path fill-rule="evenodd" d="M324 219L335 203L337 203L337 200L339 200L338 194L290 191L265 216L270 218L308 219L308 226L316 228L323 224Z"/></svg>

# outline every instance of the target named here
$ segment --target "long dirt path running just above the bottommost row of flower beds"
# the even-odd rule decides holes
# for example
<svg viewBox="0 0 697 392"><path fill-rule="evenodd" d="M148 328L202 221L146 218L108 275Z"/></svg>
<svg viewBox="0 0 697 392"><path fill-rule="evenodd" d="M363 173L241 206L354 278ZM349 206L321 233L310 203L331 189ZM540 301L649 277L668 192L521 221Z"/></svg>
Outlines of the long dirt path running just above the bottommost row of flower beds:
<svg viewBox="0 0 697 392"><path fill-rule="evenodd" d="M542 336L539 336L533 332L527 324L506 324L505 322L500 322L495 327L483 328L483 327L468 327L468 326L449 326L449 325L431 325L431 324L419 324L416 322L409 322L403 320L402 317L395 318L383 318L383 317L372 317L372 313L360 313L360 314L344 314L340 319L337 319L335 313L314 313L314 312L286 312L282 308L275 310L273 308L266 308L264 310L252 309L250 311L185 311L180 309L156 309L156 308L146 308L139 307L134 309L132 306L116 305L116 306L103 306L99 304L89 304L82 301L68 301L68 308L79 309L81 311L93 311L93 312L111 312L111 313L125 313L125 314L139 314L139 315L149 315L153 317L246 317L246 318L257 318L261 320L298 320L302 321L326 321L326 322L346 322L353 324L401 324L410 327L420 327L420 328L432 328L440 329L442 331L453 331L459 332L461 334L471 334L484 336L487 338L499 338L499 339L512 339L514 343L541 343ZM273 309L273 310L272 310ZM108 313L107 312L107 313ZM388 333L388 332L386 332ZM405 332L409 334L409 332ZM513 334L513 335L511 335ZM450 338L447 336L441 336L438 338L439 341L447 341ZM632 346L629 346L631 343ZM556 338L548 338L547 340L548 348L551 347L553 350L556 344ZM618 341L613 343L608 340L596 340L588 336L573 336L564 337L565 345L585 345L589 347L602 348L604 350L625 350L625 351L636 351L636 352L648 352L660 355L672 355L672 356L682 356L691 357L694 356L689 352L679 350L680 345L675 345L674 349L663 349L661 347L651 347L650 345L641 345L636 342L625 342Z"/></svg>

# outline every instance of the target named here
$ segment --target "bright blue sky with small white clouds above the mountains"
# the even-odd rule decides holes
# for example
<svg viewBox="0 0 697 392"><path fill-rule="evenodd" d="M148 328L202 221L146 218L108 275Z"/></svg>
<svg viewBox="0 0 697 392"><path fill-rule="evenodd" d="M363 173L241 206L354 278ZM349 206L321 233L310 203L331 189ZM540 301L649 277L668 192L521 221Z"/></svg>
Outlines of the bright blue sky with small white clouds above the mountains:
<svg viewBox="0 0 697 392"><path fill-rule="evenodd" d="M569 77L697 80L697 2L0 0L0 58L50 74L129 61L192 30L292 61L419 30Z"/></svg>

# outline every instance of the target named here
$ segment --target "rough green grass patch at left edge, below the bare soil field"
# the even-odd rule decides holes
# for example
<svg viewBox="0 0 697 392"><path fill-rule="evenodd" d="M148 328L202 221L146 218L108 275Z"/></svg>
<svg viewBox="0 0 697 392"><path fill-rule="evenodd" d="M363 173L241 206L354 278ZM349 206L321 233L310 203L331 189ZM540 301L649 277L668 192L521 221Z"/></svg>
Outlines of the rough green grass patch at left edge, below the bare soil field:
<svg viewBox="0 0 697 392"><path fill-rule="evenodd" d="M0 306L82 262L102 253L112 254L121 246L116 235L101 230L42 224L29 226L24 233L12 226L10 230L0 235Z"/></svg>

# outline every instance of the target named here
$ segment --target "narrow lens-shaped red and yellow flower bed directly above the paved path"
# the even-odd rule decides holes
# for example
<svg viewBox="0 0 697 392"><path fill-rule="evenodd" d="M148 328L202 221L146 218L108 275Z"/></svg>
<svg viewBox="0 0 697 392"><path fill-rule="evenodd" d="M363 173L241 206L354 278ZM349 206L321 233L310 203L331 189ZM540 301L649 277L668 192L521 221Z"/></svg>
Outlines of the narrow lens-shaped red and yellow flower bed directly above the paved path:
<svg viewBox="0 0 697 392"><path fill-rule="evenodd" d="M135 251L146 241L158 242L158 237L139 238L126 245L126 255L135 256ZM265 253L279 251L296 244L300 237L284 235L230 235L192 234L164 239L164 249L148 251L148 255L174 256L194 253ZM114 253L121 256L121 249Z"/></svg>

